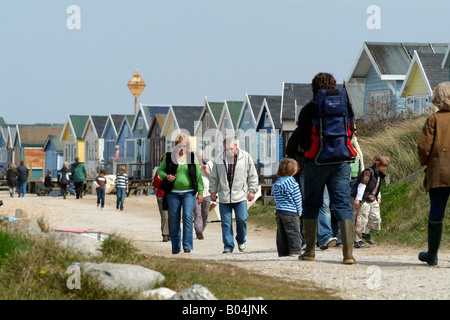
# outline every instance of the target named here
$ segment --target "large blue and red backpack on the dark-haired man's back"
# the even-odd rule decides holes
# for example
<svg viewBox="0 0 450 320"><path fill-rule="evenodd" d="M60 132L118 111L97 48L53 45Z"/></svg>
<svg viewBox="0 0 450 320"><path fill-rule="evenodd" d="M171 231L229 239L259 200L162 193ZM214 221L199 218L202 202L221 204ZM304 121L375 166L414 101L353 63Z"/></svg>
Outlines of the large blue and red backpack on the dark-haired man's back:
<svg viewBox="0 0 450 320"><path fill-rule="evenodd" d="M312 145L305 158L315 163L354 162L357 152L350 142L351 121L345 89L319 90L315 103L318 117L312 120Z"/></svg>

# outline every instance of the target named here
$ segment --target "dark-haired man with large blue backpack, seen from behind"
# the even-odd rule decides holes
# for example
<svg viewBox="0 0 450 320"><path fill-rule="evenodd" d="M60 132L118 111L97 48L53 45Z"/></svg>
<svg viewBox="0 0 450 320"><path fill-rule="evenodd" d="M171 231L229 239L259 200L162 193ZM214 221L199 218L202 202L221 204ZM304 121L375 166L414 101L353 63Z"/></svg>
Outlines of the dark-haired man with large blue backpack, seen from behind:
<svg viewBox="0 0 450 320"><path fill-rule="evenodd" d="M353 211L350 207L350 163L356 151L351 145L354 113L345 89L336 89L329 73L318 73L312 80L314 99L298 118L300 150L304 156L302 181L303 228L306 242L300 260L314 260L318 214L325 186L339 221L344 264L353 264Z"/></svg>

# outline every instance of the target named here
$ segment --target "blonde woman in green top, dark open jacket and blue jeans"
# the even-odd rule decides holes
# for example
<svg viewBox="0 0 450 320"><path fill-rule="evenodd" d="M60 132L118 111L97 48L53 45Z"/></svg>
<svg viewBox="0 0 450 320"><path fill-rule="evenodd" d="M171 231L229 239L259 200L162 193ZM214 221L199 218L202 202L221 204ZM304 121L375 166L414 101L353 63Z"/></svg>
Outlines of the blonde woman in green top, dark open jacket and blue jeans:
<svg viewBox="0 0 450 320"><path fill-rule="evenodd" d="M175 147L172 152L166 153L158 169L158 176L163 179L160 188L167 193L172 254L181 251L181 240L184 252L190 253L193 250L194 204L196 195L199 203L203 201L203 180L197 157L190 151L188 135L181 133L176 137Z"/></svg>

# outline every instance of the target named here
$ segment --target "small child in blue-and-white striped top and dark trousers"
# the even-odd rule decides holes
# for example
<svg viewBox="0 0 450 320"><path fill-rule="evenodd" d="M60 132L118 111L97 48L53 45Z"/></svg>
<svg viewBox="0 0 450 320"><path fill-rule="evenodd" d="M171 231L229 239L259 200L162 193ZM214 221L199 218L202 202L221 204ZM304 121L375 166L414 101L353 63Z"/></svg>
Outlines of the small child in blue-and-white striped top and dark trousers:
<svg viewBox="0 0 450 320"><path fill-rule="evenodd" d="M272 187L277 203L277 250L278 256L297 256L301 249L298 217L302 215L300 187L292 177L298 172L294 159L284 158L278 165L278 180Z"/></svg>

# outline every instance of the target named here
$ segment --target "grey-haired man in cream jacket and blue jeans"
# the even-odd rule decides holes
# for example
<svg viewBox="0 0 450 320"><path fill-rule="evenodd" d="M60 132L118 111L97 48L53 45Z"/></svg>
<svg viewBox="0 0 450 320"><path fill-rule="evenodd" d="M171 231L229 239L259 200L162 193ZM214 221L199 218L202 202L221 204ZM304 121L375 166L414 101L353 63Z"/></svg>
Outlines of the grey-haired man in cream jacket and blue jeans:
<svg viewBox="0 0 450 320"><path fill-rule="evenodd" d="M231 253L234 249L232 210L236 217L236 242L242 252L247 235L247 200L252 201L258 192L258 174L252 157L238 148L236 137L225 139L224 149L214 160L209 192L213 202L217 200L217 194L219 196L223 253Z"/></svg>

